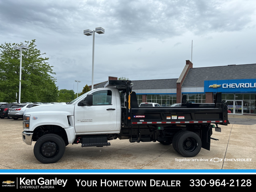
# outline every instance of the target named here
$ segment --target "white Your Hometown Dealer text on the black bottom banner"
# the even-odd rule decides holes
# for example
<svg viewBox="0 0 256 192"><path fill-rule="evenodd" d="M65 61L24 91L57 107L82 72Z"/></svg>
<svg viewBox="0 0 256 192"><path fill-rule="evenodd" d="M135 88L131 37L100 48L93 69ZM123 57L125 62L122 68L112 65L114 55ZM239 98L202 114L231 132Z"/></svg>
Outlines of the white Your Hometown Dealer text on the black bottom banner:
<svg viewBox="0 0 256 192"><path fill-rule="evenodd" d="M102 179L100 182L96 180L77 180L78 187L180 187L179 180L106 180Z"/></svg>

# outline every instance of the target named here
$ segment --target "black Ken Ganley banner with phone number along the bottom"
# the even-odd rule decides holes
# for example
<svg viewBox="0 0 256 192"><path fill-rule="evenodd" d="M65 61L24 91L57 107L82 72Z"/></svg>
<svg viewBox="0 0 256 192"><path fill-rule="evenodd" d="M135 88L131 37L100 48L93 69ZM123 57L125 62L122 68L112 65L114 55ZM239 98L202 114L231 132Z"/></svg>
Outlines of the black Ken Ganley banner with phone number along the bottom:
<svg viewBox="0 0 256 192"><path fill-rule="evenodd" d="M0 191L78 189L255 188L254 174L2 174Z"/></svg>

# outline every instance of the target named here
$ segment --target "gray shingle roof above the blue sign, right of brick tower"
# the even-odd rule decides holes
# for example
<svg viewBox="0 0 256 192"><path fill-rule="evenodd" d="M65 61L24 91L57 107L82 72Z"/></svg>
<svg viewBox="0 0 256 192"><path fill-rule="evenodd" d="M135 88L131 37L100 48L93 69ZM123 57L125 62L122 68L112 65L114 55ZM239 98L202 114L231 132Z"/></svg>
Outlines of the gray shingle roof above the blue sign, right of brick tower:
<svg viewBox="0 0 256 192"><path fill-rule="evenodd" d="M256 79L256 64L190 68L182 87L203 87L205 80Z"/></svg>

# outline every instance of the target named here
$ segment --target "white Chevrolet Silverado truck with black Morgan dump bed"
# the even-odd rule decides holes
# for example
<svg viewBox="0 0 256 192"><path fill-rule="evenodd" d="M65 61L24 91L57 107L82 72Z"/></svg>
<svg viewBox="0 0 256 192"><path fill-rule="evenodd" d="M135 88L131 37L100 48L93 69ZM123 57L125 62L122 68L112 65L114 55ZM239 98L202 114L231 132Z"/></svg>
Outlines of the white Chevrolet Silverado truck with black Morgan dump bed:
<svg viewBox="0 0 256 192"><path fill-rule="evenodd" d="M212 128L220 131L218 124L229 124L221 94L215 104L139 108L130 80L110 80L67 105L26 110L22 139L28 145L36 142L34 155L42 163L60 160L68 144L109 146L117 138L173 144L182 156L193 157L201 147L210 150Z"/></svg>

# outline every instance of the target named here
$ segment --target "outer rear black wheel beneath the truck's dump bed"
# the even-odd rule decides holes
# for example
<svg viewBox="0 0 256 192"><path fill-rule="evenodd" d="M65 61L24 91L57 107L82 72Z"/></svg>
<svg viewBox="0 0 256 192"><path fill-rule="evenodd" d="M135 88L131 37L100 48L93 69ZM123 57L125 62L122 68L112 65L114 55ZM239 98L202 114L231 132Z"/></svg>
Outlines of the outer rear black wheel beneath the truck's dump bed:
<svg viewBox="0 0 256 192"><path fill-rule="evenodd" d="M196 156L202 148L200 137L191 131L184 131L176 138L176 149L184 157Z"/></svg>

